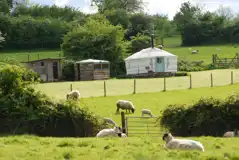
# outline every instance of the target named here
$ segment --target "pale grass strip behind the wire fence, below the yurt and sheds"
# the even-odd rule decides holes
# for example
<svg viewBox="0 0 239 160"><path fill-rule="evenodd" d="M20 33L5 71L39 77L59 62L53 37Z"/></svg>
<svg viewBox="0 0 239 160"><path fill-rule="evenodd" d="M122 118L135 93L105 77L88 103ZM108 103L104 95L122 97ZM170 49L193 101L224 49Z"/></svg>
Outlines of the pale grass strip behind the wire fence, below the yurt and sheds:
<svg viewBox="0 0 239 160"><path fill-rule="evenodd" d="M234 82L239 82L239 70L212 70L203 72L192 72L192 87L209 87L211 85L210 74L213 73L214 86L227 85L231 83L231 71L234 72ZM103 81L76 81L76 82L58 82L44 83L36 87L49 96L56 99L65 99L66 94L70 91L70 84L73 89L78 89L82 97L96 97L104 95ZM189 77L173 77L166 79L167 90L179 90L189 88ZM106 81L107 96L124 95L133 93L133 79L117 80L111 79ZM136 92L159 92L163 90L163 78L154 79L137 79Z"/></svg>

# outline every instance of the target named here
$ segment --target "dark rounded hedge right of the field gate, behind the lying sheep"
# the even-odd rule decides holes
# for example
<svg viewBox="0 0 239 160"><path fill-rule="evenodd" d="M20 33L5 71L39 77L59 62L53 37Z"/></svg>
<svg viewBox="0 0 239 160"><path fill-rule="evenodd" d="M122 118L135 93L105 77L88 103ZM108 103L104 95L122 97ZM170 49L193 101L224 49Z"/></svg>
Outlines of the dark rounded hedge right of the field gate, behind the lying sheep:
<svg viewBox="0 0 239 160"><path fill-rule="evenodd" d="M193 105L170 105L160 125L177 136L222 136L239 128L239 94L218 100L202 98Z"/></svg>

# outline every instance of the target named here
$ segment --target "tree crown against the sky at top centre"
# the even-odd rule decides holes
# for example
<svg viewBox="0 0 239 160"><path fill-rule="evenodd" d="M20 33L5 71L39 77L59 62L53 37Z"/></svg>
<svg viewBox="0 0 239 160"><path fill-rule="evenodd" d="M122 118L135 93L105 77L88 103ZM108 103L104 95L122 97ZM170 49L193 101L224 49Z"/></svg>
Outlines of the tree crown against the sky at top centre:
<svg viewBox="0 0 239 160"><path fill-rule="evenodd" d="M92 0L98 7L98 11L103 13L105 10L124 9L127 12L143 11L143 0Z"/></svg>

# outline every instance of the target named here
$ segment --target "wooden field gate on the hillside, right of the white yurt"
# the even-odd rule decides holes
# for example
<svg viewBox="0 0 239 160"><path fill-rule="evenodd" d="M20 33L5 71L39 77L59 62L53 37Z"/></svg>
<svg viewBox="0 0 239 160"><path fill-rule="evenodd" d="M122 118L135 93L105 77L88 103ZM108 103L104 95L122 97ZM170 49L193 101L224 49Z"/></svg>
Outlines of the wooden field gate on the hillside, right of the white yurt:
<svg viewBox="0 0 239 160"><path fill-rule="evenodd" d="M239 55L236 53L233 58L220 58L217 54L213 54L212 63L219 67L236 67L239 66Z"/></svg>

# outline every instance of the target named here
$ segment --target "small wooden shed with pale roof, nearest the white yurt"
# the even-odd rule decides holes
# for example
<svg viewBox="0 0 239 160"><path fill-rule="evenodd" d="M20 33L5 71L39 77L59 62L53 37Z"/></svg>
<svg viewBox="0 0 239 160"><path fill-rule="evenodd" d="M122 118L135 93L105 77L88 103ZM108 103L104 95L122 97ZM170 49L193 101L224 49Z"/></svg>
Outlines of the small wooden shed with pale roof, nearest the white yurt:
<svg viewBox="0 0 239 160"><path fill-rule="evenodd" d="M110 78L110 62L106 60L87 59L77 61L75 80L103 80Z"/></svg>

